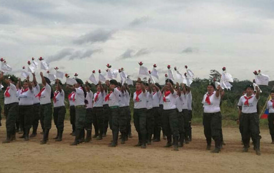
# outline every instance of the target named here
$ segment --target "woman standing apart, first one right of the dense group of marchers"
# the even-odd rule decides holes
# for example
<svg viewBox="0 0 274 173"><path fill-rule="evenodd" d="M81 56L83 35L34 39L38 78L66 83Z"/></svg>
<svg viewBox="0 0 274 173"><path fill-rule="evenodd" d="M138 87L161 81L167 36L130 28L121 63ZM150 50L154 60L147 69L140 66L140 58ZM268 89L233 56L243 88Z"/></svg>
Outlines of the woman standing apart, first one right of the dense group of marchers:
<svg viewBox="0 0 274 173"><path fill-rule="evenodd" d="M211 153L219 153L221 149L222 115L220 100L220 85L216 88L213 83L209 83L202 104L204 107L203 125L204 136L207 139L207 150L211 148L211 138L215 141L215 149Z"/></svg>

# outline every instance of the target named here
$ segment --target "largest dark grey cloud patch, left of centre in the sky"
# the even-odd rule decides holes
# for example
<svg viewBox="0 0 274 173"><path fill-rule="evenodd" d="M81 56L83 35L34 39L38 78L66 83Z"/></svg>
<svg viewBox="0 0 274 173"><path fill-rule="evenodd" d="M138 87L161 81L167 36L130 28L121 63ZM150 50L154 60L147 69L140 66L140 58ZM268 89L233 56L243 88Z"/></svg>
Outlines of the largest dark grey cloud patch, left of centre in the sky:
<svg viewBox="0 0 274 173"><path fill-rule="evenodd" d="M84 44L84 43L96 43L96 42L106 42L112 38L112 35L115 31L106 31L104 29L97 29L90 33L80 36L78 39L74 40L73 43L75 44Z"/></svg>

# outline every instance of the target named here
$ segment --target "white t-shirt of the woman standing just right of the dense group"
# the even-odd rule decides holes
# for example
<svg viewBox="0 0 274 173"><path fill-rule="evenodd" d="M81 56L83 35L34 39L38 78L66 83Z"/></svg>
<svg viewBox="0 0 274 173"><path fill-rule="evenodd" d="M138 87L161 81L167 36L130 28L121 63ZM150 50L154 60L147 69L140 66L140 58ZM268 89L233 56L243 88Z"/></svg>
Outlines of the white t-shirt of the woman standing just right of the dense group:
<svg viewBox="0 0 274 173"><path fill-rule="evenodd" d="M220 112L220 101L221 101L221 94L219 97L216 97L216 91L213 92L211 96L209 96L210 104L208 104L205 100L207 98L207 94L204 94L204 98L202 100L202 104L204 104L204 113L216 113Z"/></svg>

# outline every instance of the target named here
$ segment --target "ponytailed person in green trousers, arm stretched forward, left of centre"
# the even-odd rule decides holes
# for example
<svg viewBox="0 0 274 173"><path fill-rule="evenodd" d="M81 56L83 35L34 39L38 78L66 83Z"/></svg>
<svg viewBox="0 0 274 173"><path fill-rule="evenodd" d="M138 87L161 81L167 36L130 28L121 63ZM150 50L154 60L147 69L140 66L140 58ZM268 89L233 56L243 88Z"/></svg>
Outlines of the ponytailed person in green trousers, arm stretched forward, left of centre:
<svg viewBox="0 0 274 173"><path fill-rule="evenodd" d="M82 86L83 81L81 79L75 79L75 88L67 85L67 89L75 92L75 140L71 145L78 145L80 143L81 132L85 127L86 108L85 98L87 96L85 88Z"/></svg>

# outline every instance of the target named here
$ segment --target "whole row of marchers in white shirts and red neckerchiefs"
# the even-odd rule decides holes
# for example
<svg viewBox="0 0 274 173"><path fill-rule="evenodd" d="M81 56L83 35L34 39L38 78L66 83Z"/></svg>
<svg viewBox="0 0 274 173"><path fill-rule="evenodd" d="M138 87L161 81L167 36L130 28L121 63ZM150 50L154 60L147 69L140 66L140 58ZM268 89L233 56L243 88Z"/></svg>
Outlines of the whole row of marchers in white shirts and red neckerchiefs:
<svg viewBox="0 0 274 173"><path fill-rule="evenodd" d="M55 80L55 91L50 85L51 81L44 77L42 88L36 81L33 73L33 80L27 77L23 82L13 76L5 79L1 73L0 81L7 84L4 92L4 115L6 117L6 140L3 143L15 140L16 133L21 133L24 138L37 135L39 121L42 127L43 139L40 144L46 144L49 131L52 125L52 117L57 128L56 141L62 141L64 130L64 119L66 115L65 92L62 90L60 80ZM74 85L66 85L71 91L68 95L70 103L70 123L72 124L72 136L75 140L71 145L79 145L82 142L89 142L92 138L102 140L107 133L108 127L112 131L112 141L109 147L118 145L119 132L121 133L121 144L125 144L131 134L131 110L130 98L133 99L133 120L138 133L136 146L146 148L151 141L161 140L161 130L167 143L164 147L172 147L178 151L184 143L192 141L192 93L191 88L183 83L174 83L166 79L164 87L158 83L152 83L137 79L136 91L131 93L126 83L121 84L115 79L100 81L96 85L96 92L91 91L91 84L83 83L76 78ZM242 135L243 151L247 152L249 141L252 139L254 150L260 155L260 128L257 113L257 103L260 89L253 85L245 88L245 93L239 99L239 129ZM203 125L204 135L207 141L207 150L211 150L211 140L215 142L212 153L219 153L223 145L222 115L220 104L224 90L220 85L215 86L209 83L207 93L204 94L202 104L204 107ZM269 130L274 143L274 91L271 92L272 99L267 103L269 109ZM52 108L53 102L53 108ZM53 115L53 116L52 116ZM1 116L0 116L1 117ZM0 119L1 120L1 119ZM0 121L1 125L1 121ZM95 134L91 136L92 125ZM32 133L30 134L30 129ZM86 135L85 135L86 133Z"/></svg>

